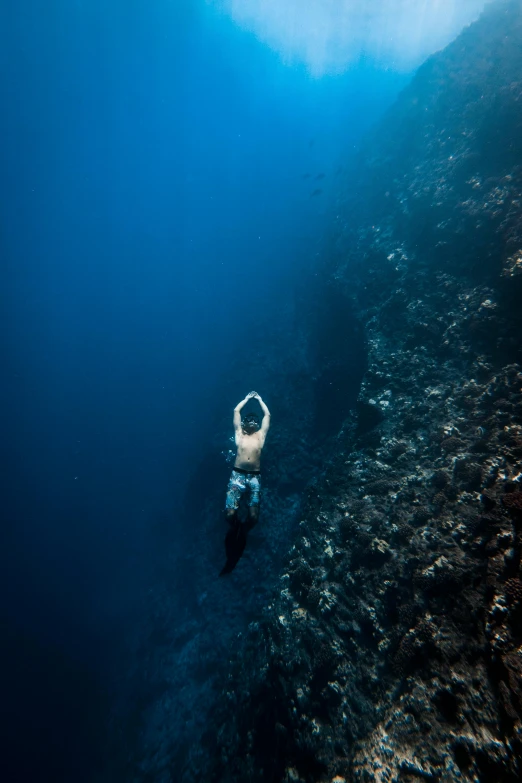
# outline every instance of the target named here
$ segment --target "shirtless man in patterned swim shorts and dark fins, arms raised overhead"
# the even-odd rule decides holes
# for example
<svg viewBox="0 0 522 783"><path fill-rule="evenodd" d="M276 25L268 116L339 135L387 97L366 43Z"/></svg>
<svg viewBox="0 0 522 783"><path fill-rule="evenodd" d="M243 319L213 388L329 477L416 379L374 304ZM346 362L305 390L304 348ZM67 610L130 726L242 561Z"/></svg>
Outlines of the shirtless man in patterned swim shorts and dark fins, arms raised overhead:
<svg viewBox="0 0 522 783"><path fill-rule="evenodd" d="M250 399L256 399L261 406L263 411L261 426L255 414L251 413L241 418L241 411ZM270 411L257 392L250 392L234 408L237 454L227 489L225 514L230 528L225 538L227 562L220 576L229 574L235 568L245 548L247 530L251 530L259 518L261 452L269 427ZM239 502L244 493L248 493L248 518L245 522L241 522L238 513Z"/></svg>

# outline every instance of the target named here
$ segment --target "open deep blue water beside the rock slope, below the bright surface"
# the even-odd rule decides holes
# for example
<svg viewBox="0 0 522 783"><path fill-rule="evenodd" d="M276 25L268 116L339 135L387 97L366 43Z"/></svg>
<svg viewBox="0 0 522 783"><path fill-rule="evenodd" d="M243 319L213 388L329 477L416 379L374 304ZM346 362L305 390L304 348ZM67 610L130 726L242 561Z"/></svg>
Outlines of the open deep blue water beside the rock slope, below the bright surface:
<svg viewBox="0 0 522 783"><path fill-rule="evenodd" d="M209 427L248 391L223 395L227 366L321 253L339 166L410 74L313 78L203 0L4 0L0 36L6 758L10 780L79 783L152 521L187 524Z"/></svg>

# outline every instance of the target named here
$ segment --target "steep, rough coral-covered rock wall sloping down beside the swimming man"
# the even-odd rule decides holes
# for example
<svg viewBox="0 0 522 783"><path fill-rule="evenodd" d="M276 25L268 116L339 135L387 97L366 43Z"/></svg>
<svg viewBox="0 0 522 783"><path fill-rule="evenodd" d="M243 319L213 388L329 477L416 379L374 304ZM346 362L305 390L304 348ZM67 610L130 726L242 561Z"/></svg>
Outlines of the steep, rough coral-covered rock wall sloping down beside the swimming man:
<svg viewBox="0 0 522 783"><path fill-rule="evenodd" d="M521 42L520 3L492 6L350 171L325 274L367 371L205 779L522 777Z"/></svg>

